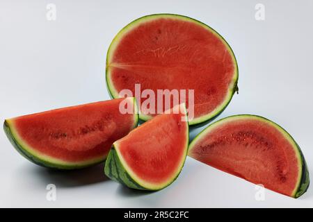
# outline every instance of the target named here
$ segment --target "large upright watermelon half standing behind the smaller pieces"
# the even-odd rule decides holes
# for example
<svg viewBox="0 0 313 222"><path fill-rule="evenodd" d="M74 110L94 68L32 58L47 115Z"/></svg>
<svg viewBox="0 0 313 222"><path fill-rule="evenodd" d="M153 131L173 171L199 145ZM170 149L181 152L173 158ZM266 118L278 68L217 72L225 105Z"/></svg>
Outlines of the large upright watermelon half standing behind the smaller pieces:
<svg viewBox="0 0 313 222"><path fill-rule="evenodd" d="M150 96L135 95L143 121L157 115L157 104L163 103L157 97L158 89L194 89L194 98L189 98L189 91L185 94L187 108L194 103L193 117L188 109L189 125L209 121L230 103L237 81L236 58L223 37L182 15L136 19L115 36L106 56L106 83L113 98L118 98L122 89L135 95L135 84L140 84L141 92L151 89L156 95L154 108L148 110L141 104ZM175 105L173 99L170 102Z"/></svg>

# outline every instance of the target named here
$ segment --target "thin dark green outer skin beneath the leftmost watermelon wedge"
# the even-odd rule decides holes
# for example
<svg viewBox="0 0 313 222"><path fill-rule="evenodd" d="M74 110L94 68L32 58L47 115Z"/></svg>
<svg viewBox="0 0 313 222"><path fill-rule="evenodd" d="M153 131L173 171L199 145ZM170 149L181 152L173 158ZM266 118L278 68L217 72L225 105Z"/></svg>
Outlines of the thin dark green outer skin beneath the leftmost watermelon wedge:
<svg viewBox="0 0 313 222"><path fill-rule="evenodd" d="M19 154L24 156L27 160L33 162L34 164L39 165L40 167L47 167L50 169L63 169L63 170L81 169L84 167L91 167L105 160L104 158L103 160L98 160L97 162L88 163L88 164L80 164L80 165L63 165L63 164L54 164L52 162L47 162L47 160L42 160L39 157L35 157L31 153L29 153L21 144L19 144L17 139L15 139L7 121L4 121L3 123L3 130L6 133L6 136L8 137L10 143L14 146L17 152L19 152Z"/></svg>

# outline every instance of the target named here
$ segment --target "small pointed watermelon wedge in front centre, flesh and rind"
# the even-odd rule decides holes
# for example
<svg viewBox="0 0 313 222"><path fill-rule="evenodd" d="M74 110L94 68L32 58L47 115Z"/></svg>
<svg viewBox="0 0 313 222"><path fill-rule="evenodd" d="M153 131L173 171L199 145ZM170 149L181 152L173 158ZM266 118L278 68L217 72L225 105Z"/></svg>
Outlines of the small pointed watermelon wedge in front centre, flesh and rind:
<svg viewBox="0 0 313 222"><path fill-rule="evenodd" d="M114 142L104 172L134 189L159 190L170 185L184 165L188 149L188 120L179 112L159 114Z"/></svg>

